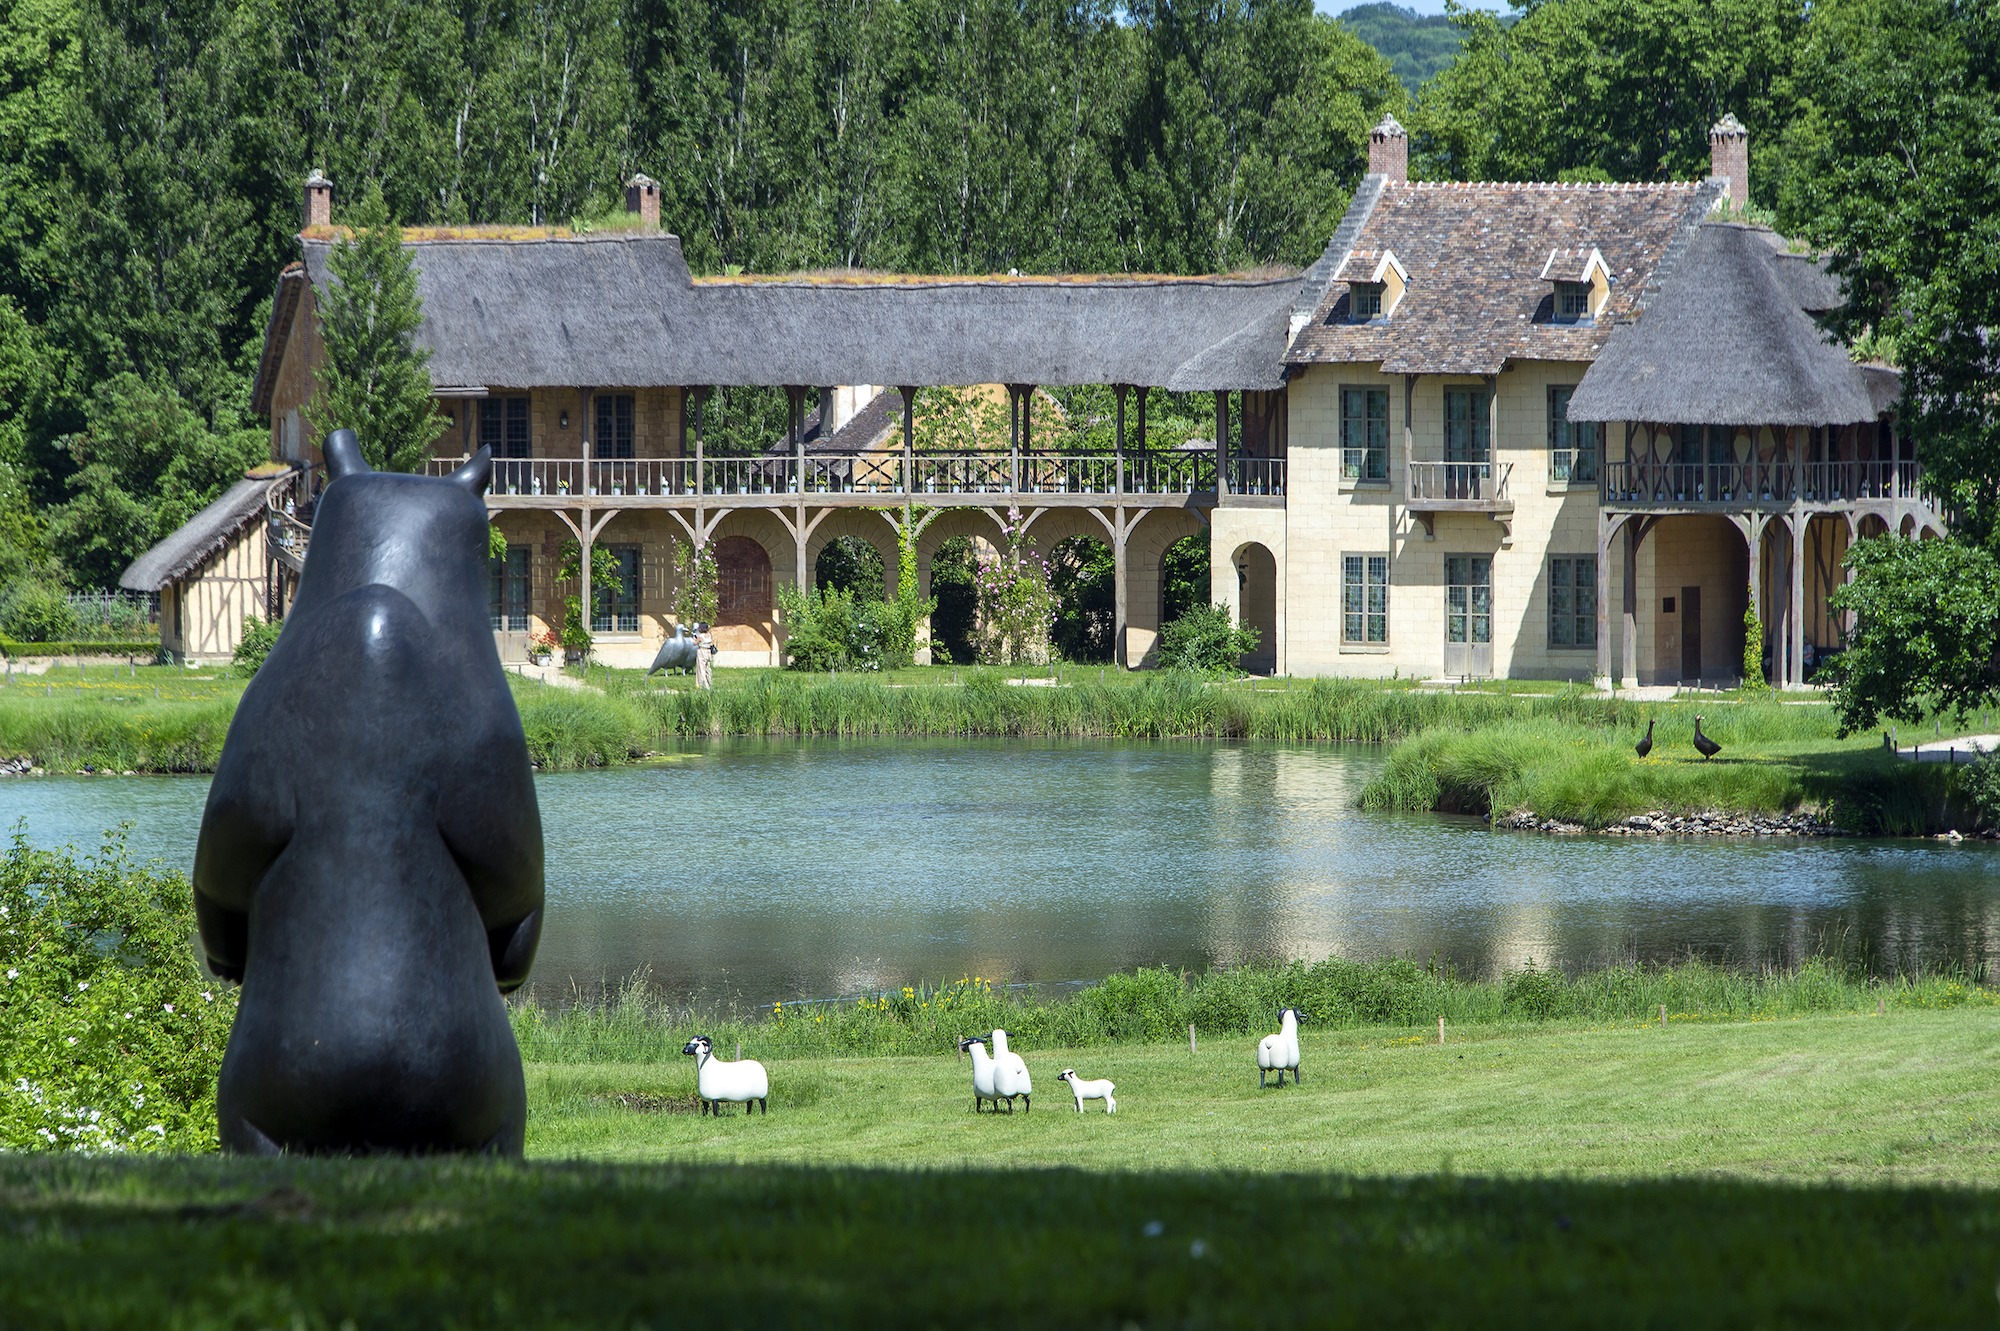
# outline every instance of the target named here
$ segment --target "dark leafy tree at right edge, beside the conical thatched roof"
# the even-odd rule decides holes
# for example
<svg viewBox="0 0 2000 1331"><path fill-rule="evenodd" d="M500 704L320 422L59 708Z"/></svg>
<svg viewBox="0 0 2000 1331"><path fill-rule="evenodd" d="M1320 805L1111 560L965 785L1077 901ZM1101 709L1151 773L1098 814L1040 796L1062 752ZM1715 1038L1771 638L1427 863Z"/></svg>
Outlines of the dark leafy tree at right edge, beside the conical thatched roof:
<svg viewBox="0 0 2000 1331"><path fill-rule="evenodd" d="M1804 60L1780 216L1832 252L1836 328L1894 354L1954 530L2000 550L2000 10L1838 0Z"/></svg>

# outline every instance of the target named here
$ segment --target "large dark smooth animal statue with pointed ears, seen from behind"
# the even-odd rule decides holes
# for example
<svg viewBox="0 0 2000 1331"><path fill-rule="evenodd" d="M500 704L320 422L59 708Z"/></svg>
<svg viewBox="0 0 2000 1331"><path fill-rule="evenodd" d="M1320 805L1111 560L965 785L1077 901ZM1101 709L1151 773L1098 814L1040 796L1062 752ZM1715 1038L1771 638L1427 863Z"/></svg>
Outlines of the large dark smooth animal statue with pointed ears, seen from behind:
<svg viewBox="0 0 2000 1331"><path fill-rule="evenodd" d="M518 1155L500 993L540 937L542 819L486 610L490 462L376 474L346 430L326 462L194 855L202 947L242 979L222 1145Z"/></svg>

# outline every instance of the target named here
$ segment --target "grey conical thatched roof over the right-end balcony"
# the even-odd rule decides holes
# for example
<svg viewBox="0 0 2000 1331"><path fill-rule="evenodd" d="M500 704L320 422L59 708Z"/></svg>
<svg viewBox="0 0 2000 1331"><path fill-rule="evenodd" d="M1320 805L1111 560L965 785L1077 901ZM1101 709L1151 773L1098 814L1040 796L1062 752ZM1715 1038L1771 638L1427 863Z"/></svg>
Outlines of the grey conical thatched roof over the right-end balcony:
<svg viewBox="0 0 2000 1331"><path fill-rule="evenodd" d="M1894 400L1894 372L1854 364L1800 304L1824 296L1772 232L1708 222L1610 336L1570 398L1570 420L1872 422Z"/></svg>

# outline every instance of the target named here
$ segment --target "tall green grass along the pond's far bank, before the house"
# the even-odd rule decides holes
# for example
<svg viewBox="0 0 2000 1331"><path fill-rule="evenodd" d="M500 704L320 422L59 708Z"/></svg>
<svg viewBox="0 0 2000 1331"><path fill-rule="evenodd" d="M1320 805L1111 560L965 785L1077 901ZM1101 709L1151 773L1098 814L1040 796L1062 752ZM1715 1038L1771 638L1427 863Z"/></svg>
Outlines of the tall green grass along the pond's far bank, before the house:
<svg viewBox="0 0 2000 1331"><path fill-rule="evenodd" d="M638 671L590 669L590 687L510 677L538 771L622 767L712 739L1250 739L1394 745L1362 793L1366 809L1472 813L1496 829L1770 835L1974 835L1982 817L1964 769L1902 763L1840 739L1832 707L1758 697L1640 701L1580 685L1438 689L1400 679L1216 681L1174 671L928 667L886 675L724 671L712 691L662 687ZM76 693L0 691L0 775L214 771L242 679L180 697L144 683ZM902 675L912 675L904 679ZM88 679L88 671L84 671ZM134 675L136 679L136 675ZM176 681L178 683L178 681ZM196 681L200 683L200 681ZM1682 739L1704 713L1716 761ZM1658 725L1648 757L1632 745ZM1682 751L1686 749L1686 751ZM1830 831L1820 831L1820 825ZM1718 831L1720 827L1720 831Z"/></svg>

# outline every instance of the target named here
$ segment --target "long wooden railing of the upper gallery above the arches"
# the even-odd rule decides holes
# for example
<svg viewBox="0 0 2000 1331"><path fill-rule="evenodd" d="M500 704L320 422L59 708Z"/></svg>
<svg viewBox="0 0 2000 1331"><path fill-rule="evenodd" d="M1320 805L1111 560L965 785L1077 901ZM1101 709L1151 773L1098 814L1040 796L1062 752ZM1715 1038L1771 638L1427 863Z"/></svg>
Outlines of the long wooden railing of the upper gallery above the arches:
<svg viewBox="0 0 2000 1331"><path fill-rule="evenodd" d="M446 476L464 458L434 458L430 476ZM802 484L800 484L802 482ZM1230 490L1282 496L1282 458L1230 460ZM730 458L494 458L492 496L798 496L804 494L1082 494L1192 496L1214 494L1214 454L806 454Z"/></svg>

